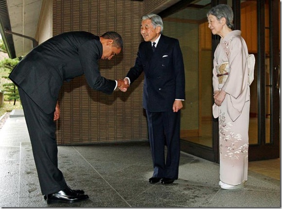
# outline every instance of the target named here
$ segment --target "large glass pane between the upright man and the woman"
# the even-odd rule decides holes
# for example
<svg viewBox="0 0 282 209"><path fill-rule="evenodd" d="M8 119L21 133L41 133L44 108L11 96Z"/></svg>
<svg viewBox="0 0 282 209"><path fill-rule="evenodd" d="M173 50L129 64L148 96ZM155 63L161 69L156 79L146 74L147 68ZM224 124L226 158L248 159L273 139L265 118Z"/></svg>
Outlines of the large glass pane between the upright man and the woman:
<svg viewBox="0 0 282 209"><path fill-rule="evenodd" d="M209 2L208 2L209 3ZM179 40L184 59L186 101L180 138L212 147L212 33L209 6L188 6L163 18L164 35Z"/></svg>

